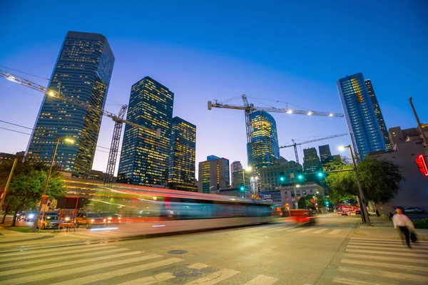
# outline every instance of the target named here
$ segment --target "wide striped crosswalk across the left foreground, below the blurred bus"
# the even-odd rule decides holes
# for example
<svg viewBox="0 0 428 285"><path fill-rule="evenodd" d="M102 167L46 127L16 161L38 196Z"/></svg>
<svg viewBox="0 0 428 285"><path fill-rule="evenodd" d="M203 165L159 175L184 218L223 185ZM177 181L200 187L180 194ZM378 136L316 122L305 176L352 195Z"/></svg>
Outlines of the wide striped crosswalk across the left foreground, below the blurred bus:
<svg viewBox="0 0 428 285"><path fill-rule="evenodd" d="M171 247L172 248L172 247ZM175 274L196 271L195 276ZM153 254L111 244L34 249L0 254L1 284L283 284L275 276L242 274L209 264L188 264L185 256Z"/></svg>

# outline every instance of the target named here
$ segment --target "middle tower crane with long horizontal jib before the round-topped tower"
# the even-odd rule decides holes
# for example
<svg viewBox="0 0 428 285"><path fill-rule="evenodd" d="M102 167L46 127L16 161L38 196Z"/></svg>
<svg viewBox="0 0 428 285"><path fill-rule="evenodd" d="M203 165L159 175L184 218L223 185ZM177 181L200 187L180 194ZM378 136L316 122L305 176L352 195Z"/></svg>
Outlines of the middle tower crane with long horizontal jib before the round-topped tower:
<svg viewBox="0 0 428 285"><path fill-rule="evenodd" d="M248 99L246 95L241 96L243 98L243 106L239 105L229 105L218 103L218 100L208 101L208 110L212 108L225 108L225 109L235 109L235 110L244 110L245 111L245 127L247 130L247 142L251 142L251 138L253 137L253 126L251 125L251 113L254 111L266 111L272 113L287 113L287 114L297 114L297 115L319 115L324 117L343 117L343 114L340 113L326 113L326 112L317 112L313 110L295 110L290 108L274 108L274 107L255 107L252 103L248 103ZM297 152L297 150L296 150ZM253 153L250 150L248 154L250 161L253 161Z"/></svg>

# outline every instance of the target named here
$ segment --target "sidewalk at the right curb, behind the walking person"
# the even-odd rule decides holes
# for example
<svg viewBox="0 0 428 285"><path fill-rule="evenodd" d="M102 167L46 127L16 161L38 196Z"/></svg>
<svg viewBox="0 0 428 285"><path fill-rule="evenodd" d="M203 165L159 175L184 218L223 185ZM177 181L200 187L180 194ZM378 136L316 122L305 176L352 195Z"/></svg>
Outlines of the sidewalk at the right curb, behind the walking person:
<svg viewBox="0 0 428 285"><path fill-rule="evenodd" d="M359 224L355 234L361 237L372 237L377 239L399 239L398 232L394 229L389 219L370 215L371 225ZM419 240L428 241L428 229L415 229Z"/></svg>

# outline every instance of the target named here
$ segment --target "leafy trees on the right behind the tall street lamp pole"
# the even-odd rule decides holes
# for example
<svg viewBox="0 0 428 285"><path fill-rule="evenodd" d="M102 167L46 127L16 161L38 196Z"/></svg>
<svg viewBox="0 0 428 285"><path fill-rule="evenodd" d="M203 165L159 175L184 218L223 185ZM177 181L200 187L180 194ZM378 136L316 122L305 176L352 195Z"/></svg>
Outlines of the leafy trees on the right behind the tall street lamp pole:
<svg viewBox="0 0 428 285"><path fill-rule="evenodd" d="M333 203L350 199L350 196L358 195L357 180L352 165L337 163L332 170L345 170L345 172L330 172L326 178L330 188L330 200ZM376 160L374 157L366 157L357 165L362 191L365 199L375 203L386 203L392 199L400 188L399 183L404 176L399 169L389 160Z"/></svg>

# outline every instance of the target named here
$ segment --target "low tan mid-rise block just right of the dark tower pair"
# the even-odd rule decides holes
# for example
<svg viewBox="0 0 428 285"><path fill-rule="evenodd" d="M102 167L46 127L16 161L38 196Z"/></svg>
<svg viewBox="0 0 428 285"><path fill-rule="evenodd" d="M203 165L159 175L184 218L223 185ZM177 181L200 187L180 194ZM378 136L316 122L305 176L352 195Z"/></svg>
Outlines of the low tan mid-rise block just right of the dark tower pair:
<svg viewBox="0 0 428 285"><path fill-rule="evenodd" d="M198 192L215 193L230 185L230 178L226 175L229 162L226 160L218 158L199 162Z"/></svg>

